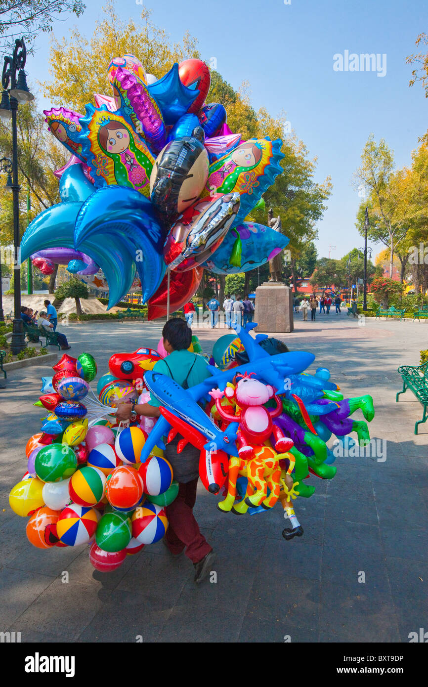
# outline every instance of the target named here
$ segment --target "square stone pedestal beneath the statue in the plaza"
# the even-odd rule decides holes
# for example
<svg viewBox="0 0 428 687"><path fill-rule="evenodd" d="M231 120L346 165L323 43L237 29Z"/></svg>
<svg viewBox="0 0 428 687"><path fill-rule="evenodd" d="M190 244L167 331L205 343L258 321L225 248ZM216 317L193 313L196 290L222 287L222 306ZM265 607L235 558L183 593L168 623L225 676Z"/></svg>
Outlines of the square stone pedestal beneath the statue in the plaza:
<svg viewBox="0 0 428 687"><path fill-rule="evenodd" d="M264 282L256 289L257 332L289 333L294 329L293 291L283 282Z"/></svg>

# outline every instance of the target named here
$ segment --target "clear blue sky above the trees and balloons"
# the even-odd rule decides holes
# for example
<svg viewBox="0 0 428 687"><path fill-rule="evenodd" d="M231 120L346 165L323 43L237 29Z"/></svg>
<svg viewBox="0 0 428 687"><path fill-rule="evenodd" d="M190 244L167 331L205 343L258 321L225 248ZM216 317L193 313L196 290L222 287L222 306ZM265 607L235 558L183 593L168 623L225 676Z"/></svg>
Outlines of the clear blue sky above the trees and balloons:
<svg viewBox="0 0 428 687"><path fill-rule="evenodd" d="M329 174L333 194L317 225L319 256L340 258L362 245L354 227L358 191L351 185L361 150L372 132L394 150L397 167L411 163L418 136L427 129L428 100L422 87L409 88L412 67L407 55L418 52L414 42L428 29L423 0L146 0L153 21L166 29L172 41L186 30L199 39L205 60L214 57L223 78L236 89L243 80L251 87L255 109L265 106L271 115L286 111L297 137L310 156L317 157L316 181ZM90 35L102 5L86 0L80 19L54 25L56 36L73 25ZM117 5L124 19L138 19L141 5ZM27 60L29 78L41 78L47 69L49 38L36 41L36 55ZM386 55L386 74L374 71L334 71L333 56ZM383 58L385 59L385 58ZM157 74L156 76L161 76ZM43 106L47 105L41 101ZM65 103L66 104L66 103ZM374 247L375 252L381 246ZM376 250L377 249L377 250Z"/></svg>

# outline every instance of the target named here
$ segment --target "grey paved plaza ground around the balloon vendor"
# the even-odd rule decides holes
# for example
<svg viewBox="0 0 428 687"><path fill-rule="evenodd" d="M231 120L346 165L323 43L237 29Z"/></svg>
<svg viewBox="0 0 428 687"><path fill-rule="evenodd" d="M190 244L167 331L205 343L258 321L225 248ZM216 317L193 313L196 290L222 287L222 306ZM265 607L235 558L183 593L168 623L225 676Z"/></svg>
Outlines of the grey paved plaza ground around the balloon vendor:
<svg viewBox="0 0 428 687"><path fill-rule="evenodd" d="M370 433L383 440L386 460L337 458L334 480L312 475L315 495L295 502L304 536L293 541L282 538L279 505L254 516L220 513L218 497L199 483L195 513L216 550L217 581L198 587L190 561L172 559L161 542L111 574L93 570L87 547L30 545L8 493L26 470L25 443L40 429L32 403L52 369L10 371L0 391L1 631L21 632L23 642L408 642L410 632L428 629L428 423L414 436L422 407L411 392L395 402L396 369L419 363L428 323L296 317L295 331L277 336L291 350L315 353L311 372L330 368L345 397L372 394ZM104 374L113 352L156 348L161 326L82 323L64 331L69 353L91 352ZM209 352L227 330L194 333Z"/></svg>

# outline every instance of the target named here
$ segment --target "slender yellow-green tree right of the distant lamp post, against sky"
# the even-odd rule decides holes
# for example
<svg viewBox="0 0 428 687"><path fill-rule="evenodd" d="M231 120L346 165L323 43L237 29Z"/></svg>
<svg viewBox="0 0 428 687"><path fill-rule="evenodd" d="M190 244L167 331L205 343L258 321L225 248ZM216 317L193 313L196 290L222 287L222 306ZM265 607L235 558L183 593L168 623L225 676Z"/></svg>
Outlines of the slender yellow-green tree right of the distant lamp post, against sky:
<svg viewBox="0 0 428 687"><path fill-rule="evenodd" d="M361 155L361 166L355 172L355 184L363 183L370 191L368 203L363 201L357 212L357 229L364 235L365 206L370 207L368 237L381 241L390 249L390 276L394 251L405 238L408 225L400 212L403 172L394 174L394 157L384 139L379 144L370 134Z"/></svg>

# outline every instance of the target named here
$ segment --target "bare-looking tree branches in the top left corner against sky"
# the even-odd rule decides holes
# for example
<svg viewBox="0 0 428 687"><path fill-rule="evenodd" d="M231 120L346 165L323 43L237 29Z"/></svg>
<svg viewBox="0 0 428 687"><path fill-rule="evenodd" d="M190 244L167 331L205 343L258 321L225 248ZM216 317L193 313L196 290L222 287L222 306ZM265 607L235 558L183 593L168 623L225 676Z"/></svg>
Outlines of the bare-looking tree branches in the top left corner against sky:
<svg viewBox="0 0 428 687"><path fill-rule="evenodd" d="M0 0L1 53L13 50L15 38L31 44L41 32L52 31L54 19L70 13L80 16L84 10L81 0Z"/></svg>

